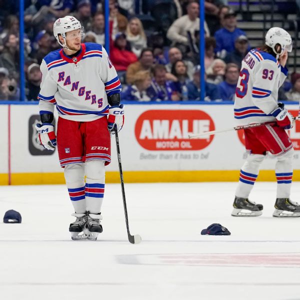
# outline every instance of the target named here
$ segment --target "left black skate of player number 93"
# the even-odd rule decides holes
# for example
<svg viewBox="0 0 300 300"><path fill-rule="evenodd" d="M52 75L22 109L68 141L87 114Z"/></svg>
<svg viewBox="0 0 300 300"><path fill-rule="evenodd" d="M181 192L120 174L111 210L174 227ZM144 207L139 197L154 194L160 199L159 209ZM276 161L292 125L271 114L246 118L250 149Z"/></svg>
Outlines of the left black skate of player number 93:
<svg viewBox="0 0 300 300"><path fill-rule="evenodd" d="M248 198L236 197L233 202L231 215L234 216L258 216L262 214L263 206L250 201Z"/></svg>

